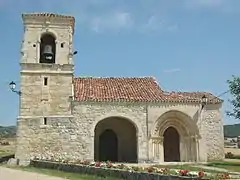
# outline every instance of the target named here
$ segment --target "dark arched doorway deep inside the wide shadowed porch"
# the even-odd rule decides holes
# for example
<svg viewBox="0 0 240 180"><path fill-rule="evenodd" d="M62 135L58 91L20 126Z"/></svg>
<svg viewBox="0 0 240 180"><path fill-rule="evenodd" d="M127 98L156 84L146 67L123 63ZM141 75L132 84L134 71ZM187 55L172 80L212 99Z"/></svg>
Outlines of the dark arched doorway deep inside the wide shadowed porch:
<svg viewBox="0 0 240 180"><path fill-rule="evenodd" d="M118 138L111 129L99 136L99 161L118 161Z"/></svg>

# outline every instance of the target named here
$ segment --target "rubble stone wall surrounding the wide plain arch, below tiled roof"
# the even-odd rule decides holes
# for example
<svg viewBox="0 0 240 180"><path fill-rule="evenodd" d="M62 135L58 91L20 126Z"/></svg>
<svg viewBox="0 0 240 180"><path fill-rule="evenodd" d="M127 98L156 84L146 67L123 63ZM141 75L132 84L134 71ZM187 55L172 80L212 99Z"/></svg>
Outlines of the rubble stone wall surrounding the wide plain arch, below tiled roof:
<svg viewBox="0 0 240 180"><path fill-rule="evenodd" d="M77 103L78 104L78 103ZM98 122L108 117L127 118L137 127L138 131L138 160L147 160L146 136L146 107L133 106L121 103L79 103L74 106L74 117L83 131L83 136L88 142L86 156L94 157L94 129Z"/></svg>

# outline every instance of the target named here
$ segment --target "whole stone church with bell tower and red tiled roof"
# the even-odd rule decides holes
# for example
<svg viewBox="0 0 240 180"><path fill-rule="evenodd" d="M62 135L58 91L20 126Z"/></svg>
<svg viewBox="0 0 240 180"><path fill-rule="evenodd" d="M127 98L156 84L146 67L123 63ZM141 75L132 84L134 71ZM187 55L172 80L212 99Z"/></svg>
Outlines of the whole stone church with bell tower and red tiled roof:
<svg viewBox="0 0 240 180"><path fill-rule="evenodd" d="M112 162L224 158L223 101L153 77L74 77L75 19L23 14L15 157Z"/></svg>

